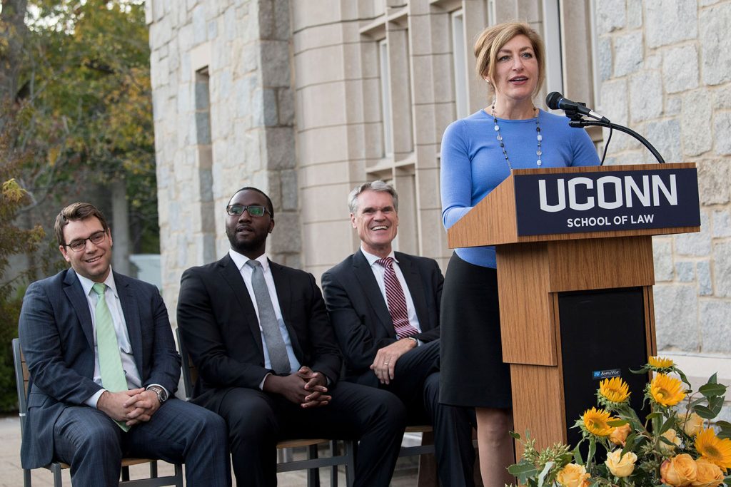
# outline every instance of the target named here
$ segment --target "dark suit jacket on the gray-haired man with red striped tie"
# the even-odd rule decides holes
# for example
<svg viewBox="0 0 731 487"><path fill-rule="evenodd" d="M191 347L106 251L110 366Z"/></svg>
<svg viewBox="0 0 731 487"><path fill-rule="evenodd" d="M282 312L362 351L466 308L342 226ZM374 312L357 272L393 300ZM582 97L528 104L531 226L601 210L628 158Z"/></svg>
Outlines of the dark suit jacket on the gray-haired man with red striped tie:
<svg viewBox="0 0 731 487"><path fill-rule="evenodd" d="M423 342L439 338L439 302L442 299L442 271L431 258L396 252L396 260L409 287ZM396 341L386 300L363 252L358 250L322 275L322 291L336 337L343 350L346 377L377 386L368 367L379 348Z"/></svg>

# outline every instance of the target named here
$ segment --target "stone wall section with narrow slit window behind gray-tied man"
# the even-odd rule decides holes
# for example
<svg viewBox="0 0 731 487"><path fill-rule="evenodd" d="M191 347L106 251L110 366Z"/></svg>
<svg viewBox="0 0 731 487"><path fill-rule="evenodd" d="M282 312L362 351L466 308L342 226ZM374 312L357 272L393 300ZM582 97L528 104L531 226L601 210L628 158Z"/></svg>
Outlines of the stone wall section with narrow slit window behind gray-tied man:
<svg viewBox="0 0 731 487"><path fill-rule="evenodd" d="M228 250L225 207L256 186L273 200L268 252L299 266L289 1L148 0L163 296Z"/></svg>

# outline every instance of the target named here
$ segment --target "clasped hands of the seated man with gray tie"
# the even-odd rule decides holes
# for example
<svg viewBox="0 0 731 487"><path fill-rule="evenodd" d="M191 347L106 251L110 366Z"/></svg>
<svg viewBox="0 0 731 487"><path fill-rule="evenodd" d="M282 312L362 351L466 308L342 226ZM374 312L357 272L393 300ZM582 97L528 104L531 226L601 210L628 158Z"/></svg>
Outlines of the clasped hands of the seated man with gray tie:
<svg viewBox="0 0 731 487"><path fill-rule="evenodd" d="M300 404L301 407L322 407L333 399L327 393L327 377L314 372L306 366L294 374L268 375L264 380L263 390L281 394L288 401Z"/></svg>

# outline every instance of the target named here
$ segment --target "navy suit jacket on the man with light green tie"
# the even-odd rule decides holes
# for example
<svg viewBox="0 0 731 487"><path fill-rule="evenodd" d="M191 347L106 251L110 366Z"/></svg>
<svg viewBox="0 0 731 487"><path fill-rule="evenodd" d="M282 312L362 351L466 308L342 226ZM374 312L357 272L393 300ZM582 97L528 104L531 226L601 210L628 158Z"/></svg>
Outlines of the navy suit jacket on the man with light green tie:
<svg viewBox="0 0 731 487"><path fill-rule="evenodd" d="M143 386L178 388L181 361L170 320L154 285L114 272L132 354ZM83 405L94 383L94 328L86 296L72 269L29 286L18 325L31 387L20 460L23 468L53 458L53 425L64 408Z"/></svg>

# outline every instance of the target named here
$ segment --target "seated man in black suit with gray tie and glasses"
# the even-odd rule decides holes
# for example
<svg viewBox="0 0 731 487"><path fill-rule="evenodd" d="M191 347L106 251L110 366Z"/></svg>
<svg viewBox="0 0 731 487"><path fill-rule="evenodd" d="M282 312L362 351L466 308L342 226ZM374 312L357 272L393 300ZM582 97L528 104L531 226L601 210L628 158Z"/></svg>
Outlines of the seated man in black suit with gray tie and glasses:
<svg viewBox="0 0 731 487"><path fill-rule="evenodd" d="M276 486L276 442L360 440L355 485L386 487L404 406L387 391L338 383L341 357L314 277L269 261L269 197L241 188L226 208L231 249L183 273L178 327L199 378L193 401L229 427L238 485Z"/></svg>

